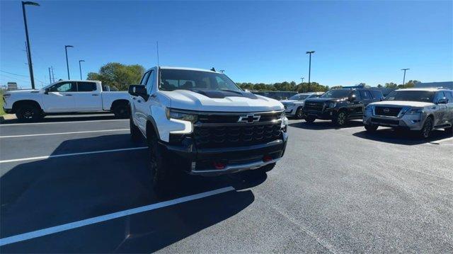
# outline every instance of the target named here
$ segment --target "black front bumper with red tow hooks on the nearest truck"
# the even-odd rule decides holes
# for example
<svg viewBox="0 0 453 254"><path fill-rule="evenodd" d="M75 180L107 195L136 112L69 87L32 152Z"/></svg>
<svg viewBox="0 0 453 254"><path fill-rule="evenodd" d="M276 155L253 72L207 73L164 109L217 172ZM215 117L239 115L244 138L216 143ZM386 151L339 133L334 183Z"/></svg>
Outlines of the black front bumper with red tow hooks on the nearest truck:
<svg viewBox="0 0 453 254"><path fill-rule="evenodd" d="M251 146L196 149L191 137L185 137L180 144L161 143L169 154L184 161L190 175L203 176L253 170L275 163L285 154L286 144L286 132L282 132L282 139Z"/></svg>

